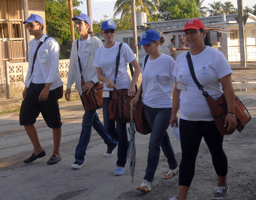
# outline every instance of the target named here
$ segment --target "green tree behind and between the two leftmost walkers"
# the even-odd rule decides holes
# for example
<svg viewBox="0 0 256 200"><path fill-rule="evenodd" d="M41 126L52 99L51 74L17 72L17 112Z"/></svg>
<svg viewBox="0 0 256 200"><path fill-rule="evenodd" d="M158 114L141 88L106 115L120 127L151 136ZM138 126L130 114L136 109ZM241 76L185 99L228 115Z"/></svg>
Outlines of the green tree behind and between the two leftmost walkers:
<svg viewBox="0 0 256 200"><path fill-rule="evenodd" d="M81 13L78 6L83 2L73 0L73 15ZM47 35L58 41L60 49L60 59L67 59L71 51L70 21L67 0L52 0L44 2ZM75 36L78 38L75 31Z"/></svg>

